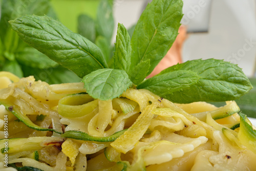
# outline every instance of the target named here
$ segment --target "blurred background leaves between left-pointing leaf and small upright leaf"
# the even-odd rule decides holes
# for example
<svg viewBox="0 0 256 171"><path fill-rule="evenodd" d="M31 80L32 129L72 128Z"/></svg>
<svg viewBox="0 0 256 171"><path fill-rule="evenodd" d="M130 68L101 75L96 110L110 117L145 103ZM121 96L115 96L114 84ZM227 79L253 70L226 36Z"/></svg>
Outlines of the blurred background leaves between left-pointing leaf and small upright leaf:
<svg viewBox="0 0 256 171"><path fill-rule="evenodd" d="M97 45L110 68L113 68L113 55L115 46L112 44L115 23L113 16L113 0L101 0L97 9L96 19L90 15L81 14L78 16L77 32ZM135 26L127 31L132 37Z"/></svg>

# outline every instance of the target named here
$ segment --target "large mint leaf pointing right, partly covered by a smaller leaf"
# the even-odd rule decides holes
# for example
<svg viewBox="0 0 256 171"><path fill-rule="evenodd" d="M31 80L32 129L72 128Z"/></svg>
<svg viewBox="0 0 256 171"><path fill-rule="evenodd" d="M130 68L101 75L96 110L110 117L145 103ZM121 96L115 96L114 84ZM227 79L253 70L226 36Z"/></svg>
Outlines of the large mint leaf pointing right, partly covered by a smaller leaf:
<svg viewBox="0 0 256 171"><path fill-rule="evenodd" d="M189 88L165 97L173 102L235 100L252 89L251 83L242 69L223 60L198 59L186 61L163 70L159 75L177 70L193 71L201 78Z"/></svg>

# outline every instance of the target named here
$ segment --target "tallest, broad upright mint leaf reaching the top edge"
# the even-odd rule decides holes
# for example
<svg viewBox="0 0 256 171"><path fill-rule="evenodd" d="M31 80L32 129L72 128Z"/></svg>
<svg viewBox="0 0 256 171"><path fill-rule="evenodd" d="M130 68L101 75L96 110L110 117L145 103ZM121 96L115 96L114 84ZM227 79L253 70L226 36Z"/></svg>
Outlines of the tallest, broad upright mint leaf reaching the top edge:
<svg viewBox="0 0 256 171"><path fill-rule="evenodd" d="M138 63L150 59L148 75L165 56L178 35L183 16L182 4L181 0L154 0L147 5L131 39L131 70Z"/></svg>

